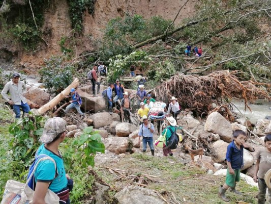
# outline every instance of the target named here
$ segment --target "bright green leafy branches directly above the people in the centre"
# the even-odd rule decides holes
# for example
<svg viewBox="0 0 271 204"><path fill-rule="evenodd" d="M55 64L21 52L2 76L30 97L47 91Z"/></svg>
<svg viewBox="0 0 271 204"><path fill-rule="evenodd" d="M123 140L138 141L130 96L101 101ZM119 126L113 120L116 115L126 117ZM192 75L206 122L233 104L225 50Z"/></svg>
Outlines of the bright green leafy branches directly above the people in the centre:
<svg viewBox="0 0 271 204"><path fill-rule="evenodd" d="M117 78L121 77L123 73L130 70L131 65L141 66L146 68L152 59L148 57L147 53L138 50L127 56L117 55L109 59L108 81L114 82Z"/></svg>

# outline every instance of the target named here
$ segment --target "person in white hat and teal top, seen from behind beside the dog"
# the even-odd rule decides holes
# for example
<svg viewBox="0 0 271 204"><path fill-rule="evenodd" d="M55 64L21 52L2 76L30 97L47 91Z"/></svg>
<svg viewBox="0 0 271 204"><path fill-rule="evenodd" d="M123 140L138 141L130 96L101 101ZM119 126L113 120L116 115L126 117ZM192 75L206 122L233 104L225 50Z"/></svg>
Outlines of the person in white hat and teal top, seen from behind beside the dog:
<svg viewBox="0 0 271 204"><path fill-rule="evenodd" d="M165 140L165 145L163 147L163 155L165 157L167 157L168 155L173 157L173 153L171 151L171 149L167 146L167 141L169 140L169 138L171 137L171 135L176 132L176 120L171 116L169 118L166 118L166 124L167 127L164 129L164 131L162 132L162 135L166 134L166 140Z"/></svg>

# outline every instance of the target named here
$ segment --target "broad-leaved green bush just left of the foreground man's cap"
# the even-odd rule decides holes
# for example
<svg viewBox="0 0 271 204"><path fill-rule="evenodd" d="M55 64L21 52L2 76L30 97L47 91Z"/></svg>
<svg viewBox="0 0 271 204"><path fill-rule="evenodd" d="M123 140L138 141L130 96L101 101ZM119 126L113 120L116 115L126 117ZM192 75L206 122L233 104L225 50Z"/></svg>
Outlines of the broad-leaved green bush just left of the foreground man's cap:
<svg viewBox="0 0 271 204"><path fill-rule="evenodd" d="M23 160L25 166L31 163L33 154L40 145L38 141L42 135L44 122L42 116L24 117L9 127L9 133L14 136L11 149L15 161Z"/></svg>

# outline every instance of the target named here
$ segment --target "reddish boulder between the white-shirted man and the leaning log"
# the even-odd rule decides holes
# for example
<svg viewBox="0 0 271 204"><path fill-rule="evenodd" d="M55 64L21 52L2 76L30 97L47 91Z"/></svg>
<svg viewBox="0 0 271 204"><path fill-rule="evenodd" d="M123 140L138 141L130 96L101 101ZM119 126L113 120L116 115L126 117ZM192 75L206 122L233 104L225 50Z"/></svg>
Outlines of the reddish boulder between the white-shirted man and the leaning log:
<svg viewBox="0 0 271 204"><path fill-rule="evenodd" d="M39 106L43 106L50 100L50 94L38 88L29 88L25 93L24 97L28 100L33 101Z"/></svg>

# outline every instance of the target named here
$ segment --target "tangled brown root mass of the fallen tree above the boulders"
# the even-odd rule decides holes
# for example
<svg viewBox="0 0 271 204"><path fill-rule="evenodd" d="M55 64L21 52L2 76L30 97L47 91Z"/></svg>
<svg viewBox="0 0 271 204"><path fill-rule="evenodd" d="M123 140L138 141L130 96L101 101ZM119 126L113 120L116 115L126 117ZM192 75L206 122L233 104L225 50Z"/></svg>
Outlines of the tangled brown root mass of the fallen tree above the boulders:
<svg viewBox="0 0 271 204"><path fill-rule="evenodd" d="M232 98L244 99L245 108L248 102L258 98L271 100L271 84L252 81L239 81L236 71L216 71L206 76L174 75L170 81L156 87L154 94L163 101L172 96L178 98L182 107L190 108L198 114L208 114L212 104L218 107L228 103Z"/></svg>

